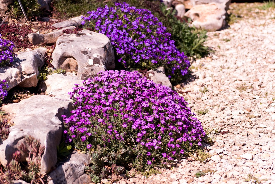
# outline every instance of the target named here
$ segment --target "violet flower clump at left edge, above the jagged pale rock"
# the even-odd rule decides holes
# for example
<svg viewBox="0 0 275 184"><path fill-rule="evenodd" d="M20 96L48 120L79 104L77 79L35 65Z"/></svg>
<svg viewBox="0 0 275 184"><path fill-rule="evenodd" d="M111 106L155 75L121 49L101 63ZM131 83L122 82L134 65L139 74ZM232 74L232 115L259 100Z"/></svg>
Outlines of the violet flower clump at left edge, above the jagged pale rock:
<svg viewBox="0 0 275 184"><path fill-rule="evenodd" d="M0 65L4 66L13 62L15 53L13 52L14 44L12 41L5 40L0 34Z"/></svg>

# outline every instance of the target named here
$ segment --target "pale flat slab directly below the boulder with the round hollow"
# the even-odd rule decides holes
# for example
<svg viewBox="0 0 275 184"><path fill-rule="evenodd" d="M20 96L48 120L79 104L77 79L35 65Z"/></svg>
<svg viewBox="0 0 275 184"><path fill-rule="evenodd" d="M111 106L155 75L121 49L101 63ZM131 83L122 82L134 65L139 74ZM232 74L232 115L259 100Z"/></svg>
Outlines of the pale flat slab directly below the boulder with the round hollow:
<svg viewBox="0 0 275 184"><path fill-rule="evenodd" d="M73 91L75 84L82 85L82 80L78 80L73 73L54 73L48 76L45 84L47 86L45 91L47 95L56 99L71 101L68 92Z"/></svg>

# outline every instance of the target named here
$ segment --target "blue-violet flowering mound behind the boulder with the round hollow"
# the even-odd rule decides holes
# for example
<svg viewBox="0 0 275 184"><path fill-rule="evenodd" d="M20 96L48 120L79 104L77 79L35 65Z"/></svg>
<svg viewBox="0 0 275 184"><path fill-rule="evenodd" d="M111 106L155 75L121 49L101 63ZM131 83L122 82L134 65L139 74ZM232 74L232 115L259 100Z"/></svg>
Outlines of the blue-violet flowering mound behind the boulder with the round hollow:
<svg viewBox="0 0 275 184"><path fill-rule="evenodd" d="M124 67L164 66L172 81L181 80L188 72L189 60L176 48L166 27L148 10L116 3L115 7L106 5L87 12L82 23L110 38L118 62Z"/></svg>

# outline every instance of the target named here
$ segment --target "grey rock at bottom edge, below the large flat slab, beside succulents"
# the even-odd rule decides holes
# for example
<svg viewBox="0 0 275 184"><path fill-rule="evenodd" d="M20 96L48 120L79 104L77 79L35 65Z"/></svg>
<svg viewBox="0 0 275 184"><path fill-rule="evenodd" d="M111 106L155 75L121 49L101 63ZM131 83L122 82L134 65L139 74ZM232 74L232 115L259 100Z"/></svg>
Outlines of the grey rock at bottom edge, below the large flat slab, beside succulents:
<svg viewBox="0 0 275 184"><path fill-rule="evenodd" d="M87 177L83 176L85 164L88 164L89 160L90 157L88 155L73 151L68 161L49 173L49 184L73 184L76 180L79 183L84 183L83 181L88 181L87 183L89 183Z"/></svg>

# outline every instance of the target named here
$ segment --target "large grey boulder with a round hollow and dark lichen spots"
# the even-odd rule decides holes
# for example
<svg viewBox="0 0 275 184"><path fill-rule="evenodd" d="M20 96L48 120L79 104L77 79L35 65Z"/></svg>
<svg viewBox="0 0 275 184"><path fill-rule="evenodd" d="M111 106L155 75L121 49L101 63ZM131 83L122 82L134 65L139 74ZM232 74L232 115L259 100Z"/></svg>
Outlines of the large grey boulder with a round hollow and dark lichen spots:
<svg viewBox="0 0 275 184"><path fill-rule="evenodd" d="M114 50L109 38L89 30L60 36L52 58L56 69L77 72L80 80L115 68Z"/></svg>

